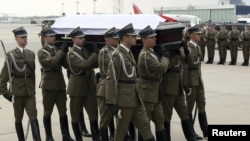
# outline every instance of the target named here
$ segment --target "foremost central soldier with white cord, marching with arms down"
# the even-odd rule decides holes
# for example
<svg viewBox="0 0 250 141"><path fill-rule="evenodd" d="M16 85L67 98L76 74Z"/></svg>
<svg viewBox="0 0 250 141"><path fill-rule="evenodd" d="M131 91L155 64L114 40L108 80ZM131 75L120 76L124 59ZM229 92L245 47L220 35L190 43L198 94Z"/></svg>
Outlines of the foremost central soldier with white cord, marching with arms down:
<svg viewBox="0 0 250 141"><path fill-rule="evenodd" d="M108 66L106 104L117 116L115 141L122 141L133 121L145 141L155 141L150 121L136 91L136 61L130 50L136 44L137 34L130 23L118 31L120 46L113 52Z"/></svg>

